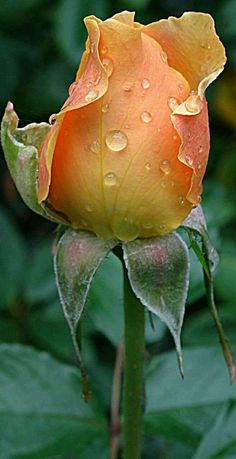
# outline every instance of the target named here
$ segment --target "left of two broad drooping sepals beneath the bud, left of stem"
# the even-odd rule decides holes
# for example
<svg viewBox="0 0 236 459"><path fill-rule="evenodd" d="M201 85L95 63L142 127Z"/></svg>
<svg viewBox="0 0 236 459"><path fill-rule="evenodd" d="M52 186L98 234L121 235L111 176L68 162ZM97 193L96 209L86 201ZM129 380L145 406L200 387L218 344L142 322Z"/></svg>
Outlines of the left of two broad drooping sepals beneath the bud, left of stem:
<svg viewBox="0 0 236 459"><path fill-rule="evenodd" d="M78 324L93 277L116 244L116 241L99 239L87 231L68 229L61 237L54 257L59 297L79 361L85 400L89 399L89 391L78 344Z"/></svg>

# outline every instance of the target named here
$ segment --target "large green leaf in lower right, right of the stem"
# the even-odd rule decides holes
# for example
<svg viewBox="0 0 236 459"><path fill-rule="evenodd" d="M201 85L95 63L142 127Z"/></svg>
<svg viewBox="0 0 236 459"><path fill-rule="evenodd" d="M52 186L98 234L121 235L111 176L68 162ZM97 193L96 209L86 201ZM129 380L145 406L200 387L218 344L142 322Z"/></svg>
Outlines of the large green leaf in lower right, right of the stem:
<svg viewBox="0 0 236 459"><path fill-rule="evenodd" d="M188 446L188 454L180 457L192 459L222 406L235 403L236 386L225 377L223 359L216 346L185 349L184 361L184 381L173 377L174 352L151 361L146 374L145 431L149 436L166 439L167 452L170 442ZM222 433L218 432L217 439L220 437ZM204 459L210 457L216 456Z"/></svg>

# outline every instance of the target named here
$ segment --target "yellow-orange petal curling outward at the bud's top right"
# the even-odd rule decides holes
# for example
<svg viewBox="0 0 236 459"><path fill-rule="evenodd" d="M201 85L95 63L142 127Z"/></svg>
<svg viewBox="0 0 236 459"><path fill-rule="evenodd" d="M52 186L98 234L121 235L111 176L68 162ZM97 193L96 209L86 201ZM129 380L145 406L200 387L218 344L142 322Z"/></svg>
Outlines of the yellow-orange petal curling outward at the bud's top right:
<svg viewBox="0 0 236 459"><path fill-rule="evenodd" d="M223 71L226 56L209 14L187 12L145 26L167 53L168 63L184 75L203 98L207 86Z"/></svg>

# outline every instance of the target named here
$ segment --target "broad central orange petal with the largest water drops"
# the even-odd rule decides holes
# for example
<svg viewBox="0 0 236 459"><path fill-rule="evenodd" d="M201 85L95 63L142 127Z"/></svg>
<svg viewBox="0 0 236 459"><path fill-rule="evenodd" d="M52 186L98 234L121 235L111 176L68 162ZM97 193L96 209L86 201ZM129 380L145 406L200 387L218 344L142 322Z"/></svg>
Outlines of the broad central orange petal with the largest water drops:
<svg viewBox="0 0 236 459"><path fill-rule="evenodd" d="M74 227L104 238L162 235L192 208L186 196L193 171L178 159L171 121L171 102L183 102L190 88L142 26L114 18L98 25L108 90L66 113L49 199Z"/></svg>

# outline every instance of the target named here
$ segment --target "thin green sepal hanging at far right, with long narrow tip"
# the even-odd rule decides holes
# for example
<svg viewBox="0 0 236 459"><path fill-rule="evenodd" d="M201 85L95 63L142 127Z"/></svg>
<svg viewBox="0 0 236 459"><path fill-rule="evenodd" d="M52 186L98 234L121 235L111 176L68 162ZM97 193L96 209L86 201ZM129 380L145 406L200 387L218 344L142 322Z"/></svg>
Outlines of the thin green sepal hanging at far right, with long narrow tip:
<svg viewBox="0 0 236 459"><path fill-rule="evenodd" d="M230 381L233 383L236 376L236 362L230 347L230 343L225 336L214 298L213 273L218 264L219 257L210 241L204 213L201 206L198 206L192 210L186 220L184 220L182 223L182 227L187 231L191 247L203 268L208 306L215 323L225 362L229 370Z"/></svg>

